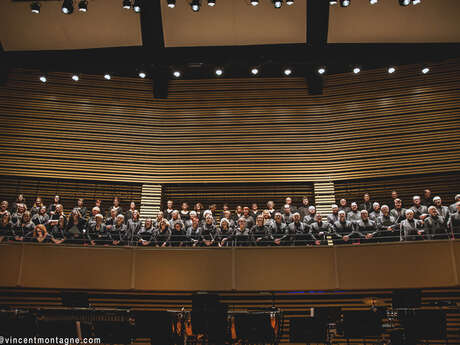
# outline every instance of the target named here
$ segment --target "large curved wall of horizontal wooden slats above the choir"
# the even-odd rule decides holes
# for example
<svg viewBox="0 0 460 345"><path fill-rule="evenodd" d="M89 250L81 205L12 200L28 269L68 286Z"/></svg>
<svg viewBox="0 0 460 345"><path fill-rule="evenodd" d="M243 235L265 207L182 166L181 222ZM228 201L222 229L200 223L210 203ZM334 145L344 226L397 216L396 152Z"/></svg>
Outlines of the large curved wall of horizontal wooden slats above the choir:
<svg viewBox="0 0 460 345"><path fill-rule="evenodd" d="M149 80L15 70L0 175L139 183L336 181L459 171L460 61L302 78Z"/></svg>

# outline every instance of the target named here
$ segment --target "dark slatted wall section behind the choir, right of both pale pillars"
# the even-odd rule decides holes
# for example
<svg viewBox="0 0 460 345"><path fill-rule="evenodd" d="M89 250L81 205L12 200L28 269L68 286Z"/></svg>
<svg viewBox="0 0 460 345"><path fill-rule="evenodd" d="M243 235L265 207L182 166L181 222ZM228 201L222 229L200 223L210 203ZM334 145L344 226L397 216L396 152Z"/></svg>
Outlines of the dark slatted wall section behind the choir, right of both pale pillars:
<svg viewBox="0 0 460 345"><path fill-rule="evenodd" d="M392 208L392 190L398 192L404 206L410 206L412 197L419 195L423 198L426 188L431 190L433 196L440 196L444 205L450 205L455 201L455 195L460 193L460 173L336 181L335 196L337 200L345 198L350 202L362 202L363 194L367 192L372 200L387 203Z"/></svg>

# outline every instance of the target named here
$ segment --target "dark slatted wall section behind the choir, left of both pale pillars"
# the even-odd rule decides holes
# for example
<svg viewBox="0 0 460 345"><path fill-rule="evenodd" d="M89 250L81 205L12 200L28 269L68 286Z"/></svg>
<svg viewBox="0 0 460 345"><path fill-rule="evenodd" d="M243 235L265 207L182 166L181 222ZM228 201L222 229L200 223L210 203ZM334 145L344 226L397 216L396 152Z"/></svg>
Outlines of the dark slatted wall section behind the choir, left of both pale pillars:
<svg viewBox="0 0 460 345"><path fill-rule="evenodd" d="M1 200L6 200L11 205L19 194L24 195L29 209L37 197L41 197L43 203L48 206L54 196L59 195L65 213L72 211L78 198L84 198L89 215L96 199L101 199L102 211L105 212L112 205L115 196L120 198L124 210L129 208L131 201L134 201L139 209L142 186L134 183L0 176Z"/></svg>

